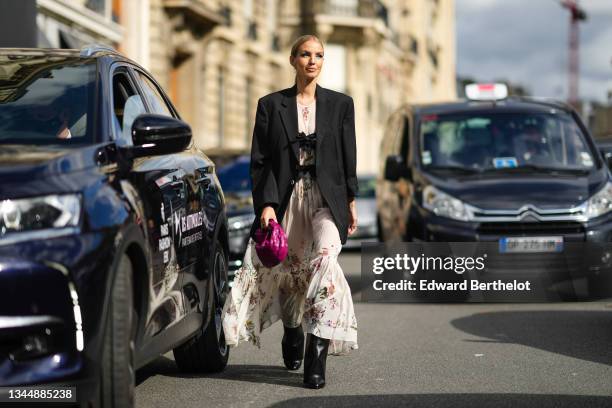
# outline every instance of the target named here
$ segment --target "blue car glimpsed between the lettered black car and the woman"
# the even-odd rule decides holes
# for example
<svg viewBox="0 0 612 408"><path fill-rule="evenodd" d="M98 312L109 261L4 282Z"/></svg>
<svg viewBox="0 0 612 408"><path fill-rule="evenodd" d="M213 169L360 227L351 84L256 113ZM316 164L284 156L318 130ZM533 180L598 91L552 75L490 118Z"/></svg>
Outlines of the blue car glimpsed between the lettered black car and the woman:
<svg viewBox="0 0 612 408"><path fill-rule="evenodd" d="M245 151L215 149L207 151L217 164L217 176L225 194L229 236L230 277L242 266L255 220L251 188L251 157Z"/></svg>

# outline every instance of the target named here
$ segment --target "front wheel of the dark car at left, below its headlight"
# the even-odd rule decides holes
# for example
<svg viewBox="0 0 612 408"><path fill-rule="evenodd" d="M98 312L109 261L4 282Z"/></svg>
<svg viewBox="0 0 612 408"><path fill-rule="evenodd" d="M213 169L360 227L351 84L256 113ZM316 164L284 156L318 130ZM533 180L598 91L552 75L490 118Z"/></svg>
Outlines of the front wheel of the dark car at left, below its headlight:
<svg viewBox="0 0 612 408"><path fill-rule="evenodd" d="M123 254L115 273L104 333L101 406L134 406L134 307L132 263Z"/></svg>

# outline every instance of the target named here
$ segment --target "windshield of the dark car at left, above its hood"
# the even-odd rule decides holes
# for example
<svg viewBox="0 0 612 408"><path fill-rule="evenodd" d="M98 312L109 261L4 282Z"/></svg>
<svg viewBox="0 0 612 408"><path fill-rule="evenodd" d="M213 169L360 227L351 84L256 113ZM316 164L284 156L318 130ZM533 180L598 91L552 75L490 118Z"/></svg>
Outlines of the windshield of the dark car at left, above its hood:
<svg viewBox="0 0 612 408"><path fill-rule="evenodd" d="M76 57L0 55L0 143L91 142L95 72Z"/></svg>

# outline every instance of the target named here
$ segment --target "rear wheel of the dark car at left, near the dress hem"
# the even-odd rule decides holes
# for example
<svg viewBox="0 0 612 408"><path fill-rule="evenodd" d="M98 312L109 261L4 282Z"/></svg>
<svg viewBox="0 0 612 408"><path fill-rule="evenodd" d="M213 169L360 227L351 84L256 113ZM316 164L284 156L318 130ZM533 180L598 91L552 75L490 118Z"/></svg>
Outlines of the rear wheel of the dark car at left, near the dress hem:
<svg viewBox="0 0 612 408"><path fill-rule="evenodd" d="M184 372L220 372L229 359L229 346L225 343L221 324L221 312L229 289L227 258L218 241L213 254L213 306L210 308L209 323L185 344L174 349L176 364Z"/></svg>

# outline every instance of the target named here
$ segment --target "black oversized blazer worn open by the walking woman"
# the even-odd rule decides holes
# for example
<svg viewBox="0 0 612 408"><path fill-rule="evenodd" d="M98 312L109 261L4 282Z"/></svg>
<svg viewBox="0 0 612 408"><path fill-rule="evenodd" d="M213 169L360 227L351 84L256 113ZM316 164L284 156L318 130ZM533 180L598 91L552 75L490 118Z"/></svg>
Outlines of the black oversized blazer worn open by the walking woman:
<svg viewBox="0 0 612 408"><path fill-rule="evenodd" d="M297 87L274 92L257 104L251 146L251 179L256 218L251 237L267 205L282 222L297 181ZM328 204L344 244L348 229L348 201L358 193L356 177L355 108L350 96L317 85L316 182Z"/></svg>

